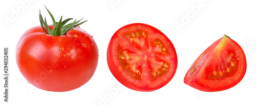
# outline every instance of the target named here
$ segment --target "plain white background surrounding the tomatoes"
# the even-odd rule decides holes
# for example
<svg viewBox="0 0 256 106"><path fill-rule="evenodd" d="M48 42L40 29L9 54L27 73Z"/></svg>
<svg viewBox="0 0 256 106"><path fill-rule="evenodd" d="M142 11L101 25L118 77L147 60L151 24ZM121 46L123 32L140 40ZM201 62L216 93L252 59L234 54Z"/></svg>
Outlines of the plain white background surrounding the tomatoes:
<svg viewBox="0 0 256 106"><path fill-rule="evenodd" d="M51 22L44 5L56 20L61 15L63 19L88 20L80 28L94 36L99 48L99 62L91 80L78 89L68 92L37 89L28 84L17 68L16 44L24 32L40 25L39 9L48 23ZM2 1L0 54L4 54L4 47L9 47L10 93L8 103L0 96L0 105L256 105L255 5L254 1L217 0ZM195 7L200 8L195 10ZM175 76L166 86L153 92L138 92L120 86L106 62L106 49L112 35L122 26L135 22L150 24L162 31L177 51ZM177 29L175 23L183 25ZM201 92L184 84L183 78L190 65L224 34L244 49L247 71L243 80L220 92ZM3 67L3 57L0 61L0 67ZM0 69L3 73L4 69ZM0 76L0 95L4 95L3 74Z"/></svg>

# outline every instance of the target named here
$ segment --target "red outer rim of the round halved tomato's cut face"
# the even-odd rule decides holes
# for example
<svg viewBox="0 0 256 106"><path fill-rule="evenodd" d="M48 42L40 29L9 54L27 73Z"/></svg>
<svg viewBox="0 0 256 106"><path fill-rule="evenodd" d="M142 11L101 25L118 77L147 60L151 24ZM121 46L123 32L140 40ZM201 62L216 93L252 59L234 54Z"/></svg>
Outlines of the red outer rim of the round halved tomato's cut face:
<svg viewBox="0 0 256 106"><path fill-rule="evenodd" d="M130 88L132 90L135 90L135 91L142 91L142 92L151 92L151 91L155 91L157 89L160 89L162 88L163 86L165 86L166 84L168 84L170 82L170 80L172 80L173 76L175 75L175 72L176 72L176 69L177 69L177 54L176 54L176 50L172 44L172 42L170 42L170 40L168 39L166 42L168 42L169 45L172 45L173 48L170 48L170 51L172 51L172 55L173 57L175 57L175 59L173 59L173 70L169 70L169 71L172 71L170 72L168 75L165 75L164 77L166 77L166 81L165 82L161 82L160 85L158 85L157 87L154 87L154 88L148 88L148 87L136 87L134 85L132 85L131 83L127 82L124 78L124 76L122 76L120 74L120 72L118 72L118 68L116 65L114 65L114 62L113 61L116 61L116 60L113 60L111 54L113 54L113 50L112 47L114 45L114 43L117 43L117 41L114 41L113 39L117 38L119 35L119 33L123 32L123 31L126 31L126 30L123 30L123 29L127 29L127 28L133 28L133 29L136 29L137 26L142 26L143 27L146 27L147 30L151 30L151 32L157 32L159 33L159 35L163 35L159 38L162 38L162 39L168 39L161 31L159 31L158 29L154 28L153 26L151 25L147 25L147 24L144 24L144 23L132 23L132 24L127 24L125 26L123 26L122 28L120 28L118 31L116 31L116 33L112 36L111 38L111 41L108 45L108 50L107 50L107 61L108 61L108 66L109 66L109 69L111 71L111 73L114 75L114 77L122 84L124 85L125 87L127 88ZM141 30L141 29L140 29ZM144 29L143 29L144 30ZM129 31L128 31L129 32ZM112 47L112 48L111 48Z"/></svg>

